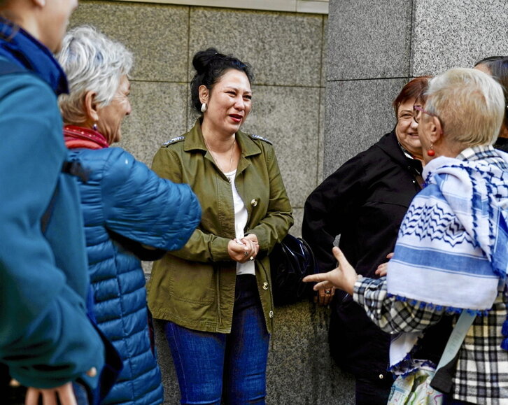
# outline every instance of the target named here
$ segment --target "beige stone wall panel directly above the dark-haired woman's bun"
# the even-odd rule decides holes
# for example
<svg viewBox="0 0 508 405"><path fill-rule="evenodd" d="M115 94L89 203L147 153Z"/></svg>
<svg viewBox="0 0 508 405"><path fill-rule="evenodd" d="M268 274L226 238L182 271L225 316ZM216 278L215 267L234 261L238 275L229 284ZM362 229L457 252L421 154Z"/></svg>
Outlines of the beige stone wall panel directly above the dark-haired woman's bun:
<svg viewBox="0 0 508 405"><path fill-rule="evenodd" d="M254 68L263 85L320 84L323 16L297 13L191 8L189 78L192 56L213 46Z"/></svg>

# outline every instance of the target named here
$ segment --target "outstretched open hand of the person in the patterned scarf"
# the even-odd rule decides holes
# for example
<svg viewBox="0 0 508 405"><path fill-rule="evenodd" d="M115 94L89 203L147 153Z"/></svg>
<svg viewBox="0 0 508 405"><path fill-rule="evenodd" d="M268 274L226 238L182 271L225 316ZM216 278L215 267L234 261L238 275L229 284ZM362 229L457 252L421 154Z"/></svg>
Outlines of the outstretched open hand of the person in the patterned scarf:
<svg viewBox="0 0 508 405"><path fill-rule="evenodd" d="M327 273L311 274L311 276L306 276L304 281L317 283L314 285L316 291L330 290L330 288L336 287L352 295L358 274L339 248L333 248L332 253L339 262L337 269Z"/></svg>

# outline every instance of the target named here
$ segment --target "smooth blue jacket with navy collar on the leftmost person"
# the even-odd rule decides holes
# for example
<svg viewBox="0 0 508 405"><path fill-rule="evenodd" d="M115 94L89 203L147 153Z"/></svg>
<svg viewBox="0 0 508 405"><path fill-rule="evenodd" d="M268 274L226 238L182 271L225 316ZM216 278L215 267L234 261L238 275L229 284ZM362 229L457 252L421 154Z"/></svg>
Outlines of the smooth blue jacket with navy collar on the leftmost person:
<svg viewBox="0 0 508 405"><path fill-rule="evenodd" d="M52 388L100 371L104 347L87 318L89 284L76 179L57 93L66 79L50 51L0 20L0 363L22 385ZM46 232L41 219L52 196Z"/></svg>

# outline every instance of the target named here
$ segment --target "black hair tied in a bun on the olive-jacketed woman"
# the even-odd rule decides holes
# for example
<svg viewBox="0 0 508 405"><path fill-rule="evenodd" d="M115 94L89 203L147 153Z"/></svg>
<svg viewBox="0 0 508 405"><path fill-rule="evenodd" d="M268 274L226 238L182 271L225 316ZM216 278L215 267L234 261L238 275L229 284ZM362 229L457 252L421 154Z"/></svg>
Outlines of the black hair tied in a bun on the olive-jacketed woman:
<svg viewBox="0 0 508 405"><path fill-rule="evenodd" d="M198 113L201 112L199 86L204 85L211 90L213 85L230 69L244 72L247 75L249 83L252 83L254 80L251 66L241 62L241 60L232 55L219 53L216 48L208 48L207 50L196 52L192 58L192 66L196 69L196 74L190 82L190 97L192 106Z"/></svg>

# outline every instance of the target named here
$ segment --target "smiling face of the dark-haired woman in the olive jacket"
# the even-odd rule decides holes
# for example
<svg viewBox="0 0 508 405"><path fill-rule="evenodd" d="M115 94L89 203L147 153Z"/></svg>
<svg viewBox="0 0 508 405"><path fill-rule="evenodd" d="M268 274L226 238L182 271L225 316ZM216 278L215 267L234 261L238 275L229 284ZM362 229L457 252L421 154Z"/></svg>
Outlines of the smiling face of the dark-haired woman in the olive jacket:
<svg viewBox="0 0 508 405"><path fill-rule="evenodd" d="M251 83L243 71L226 71L212 90L199 88L199 98L206 103L203 125L213 132L235 134L252 108Z"/></svg>

